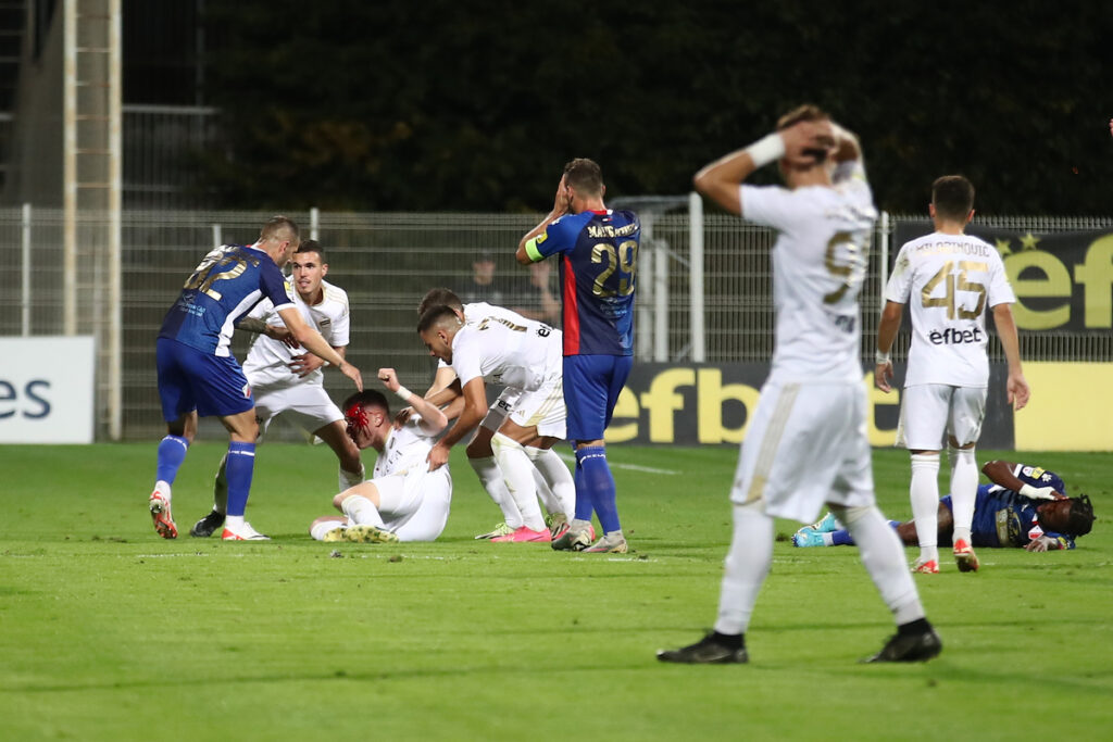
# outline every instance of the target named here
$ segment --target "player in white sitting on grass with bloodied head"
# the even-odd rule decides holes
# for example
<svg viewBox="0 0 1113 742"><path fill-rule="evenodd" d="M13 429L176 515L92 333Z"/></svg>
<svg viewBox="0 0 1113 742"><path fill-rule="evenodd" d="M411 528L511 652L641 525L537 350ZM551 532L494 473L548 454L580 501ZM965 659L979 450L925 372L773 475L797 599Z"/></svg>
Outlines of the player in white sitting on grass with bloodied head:
<svg viewBox="0 0 1113 742"><path fill-rule="evenodd" d="M449 419L398 384L393 368L380 368L378 378L412 405L414 414L395 427L382 392L366 389L345 400L348 435L361 449L377 451L378 458L371 479L333 497L333 505L345 517L326 515L309 526L309 535L317 541L435 541L449 521L449 467L430 471L426 461L434 438Z"/></svg>

